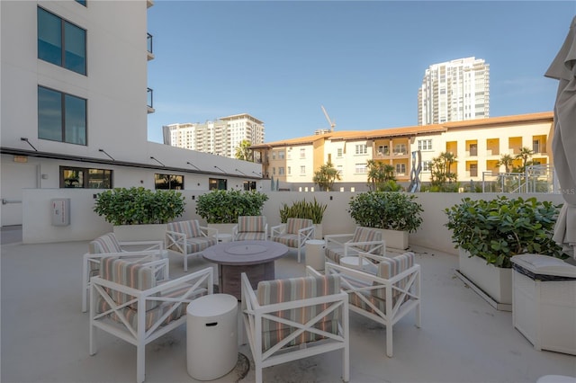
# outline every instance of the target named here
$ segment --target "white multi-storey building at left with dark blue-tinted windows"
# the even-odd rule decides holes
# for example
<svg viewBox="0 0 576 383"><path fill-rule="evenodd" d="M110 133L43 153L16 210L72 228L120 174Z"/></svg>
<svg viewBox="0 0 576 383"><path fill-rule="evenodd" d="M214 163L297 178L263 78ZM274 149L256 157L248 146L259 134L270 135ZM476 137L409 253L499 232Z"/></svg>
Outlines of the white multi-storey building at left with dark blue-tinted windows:
<svg viewBox="0 0 576 383"><path fill-rule="evenodd" d="M27 189L206 191L259 179L259 165L148 141L148 11L151 0L0 2L2 226L24 226Z"/></svg>

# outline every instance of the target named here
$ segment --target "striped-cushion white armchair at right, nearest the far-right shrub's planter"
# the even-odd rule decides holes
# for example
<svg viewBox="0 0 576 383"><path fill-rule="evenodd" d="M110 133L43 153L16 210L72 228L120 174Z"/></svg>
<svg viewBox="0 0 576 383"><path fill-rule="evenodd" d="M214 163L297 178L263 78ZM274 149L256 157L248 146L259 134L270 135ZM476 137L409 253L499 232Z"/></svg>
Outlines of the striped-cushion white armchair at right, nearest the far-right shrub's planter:
<svg viewBox="0 0 576 383"><path fill-rule="evenodd" d="M375 274L335 263L326 263L325 272L340 276L350 311L386 327L386 355L392 357L392 326L412 309L416 310L416 326L420 326L420 265L414 263L411 252L393 258L359 256L376 264Z"/></svg>

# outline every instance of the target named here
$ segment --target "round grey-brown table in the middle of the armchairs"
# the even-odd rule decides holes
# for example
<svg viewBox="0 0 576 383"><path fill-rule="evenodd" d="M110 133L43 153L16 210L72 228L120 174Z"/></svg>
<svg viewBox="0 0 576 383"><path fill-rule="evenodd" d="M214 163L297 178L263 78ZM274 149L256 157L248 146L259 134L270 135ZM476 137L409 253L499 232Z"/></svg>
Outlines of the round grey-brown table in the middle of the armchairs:
<svg viewBox="0 0 576 383"><path fill-rule="evenodd" d="M240 274L246 272L252 289L256 289L259 281L275 279L274 262L288 250L286 245L273 241L235 241L208 247L202 256L218 263L219 292L241 300Z"/></svg>

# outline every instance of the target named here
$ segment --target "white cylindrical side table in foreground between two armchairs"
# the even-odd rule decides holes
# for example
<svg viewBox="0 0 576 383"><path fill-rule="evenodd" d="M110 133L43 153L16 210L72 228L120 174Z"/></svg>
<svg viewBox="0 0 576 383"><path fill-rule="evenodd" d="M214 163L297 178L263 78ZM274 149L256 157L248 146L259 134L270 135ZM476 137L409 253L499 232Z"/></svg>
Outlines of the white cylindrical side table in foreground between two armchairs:
<svg viewBox="0 0 576 383"><path fill-rule="evenodd" d="M211 294L186 308L188 374L197 380L218 379L238 361L238 299Z"/></svg>

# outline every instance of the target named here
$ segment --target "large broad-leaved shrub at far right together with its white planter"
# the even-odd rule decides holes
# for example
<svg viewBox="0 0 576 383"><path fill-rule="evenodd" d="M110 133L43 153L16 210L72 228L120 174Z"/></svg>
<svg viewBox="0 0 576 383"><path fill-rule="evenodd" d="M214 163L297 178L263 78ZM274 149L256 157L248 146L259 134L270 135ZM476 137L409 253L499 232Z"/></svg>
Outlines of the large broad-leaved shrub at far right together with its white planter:
<svg viewBox="0 0 576 383"><path fill-rule="evenodd" d="M459 249L459 272L503 309L512 304L512 264L516 254L543 254L563 258L552 239L560 211L550 201L532 197L471 200L445 210L446 227Z"/></svg>

